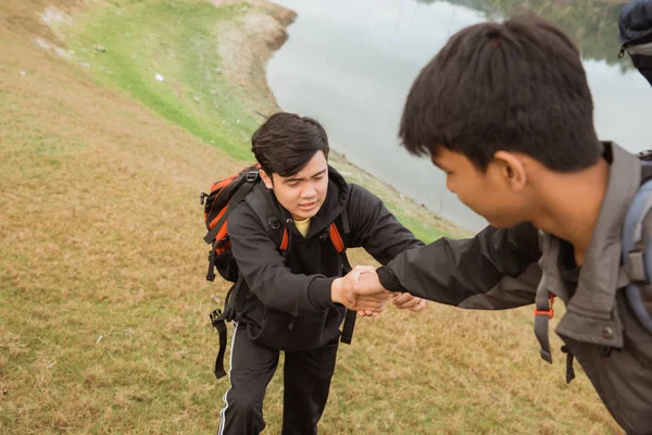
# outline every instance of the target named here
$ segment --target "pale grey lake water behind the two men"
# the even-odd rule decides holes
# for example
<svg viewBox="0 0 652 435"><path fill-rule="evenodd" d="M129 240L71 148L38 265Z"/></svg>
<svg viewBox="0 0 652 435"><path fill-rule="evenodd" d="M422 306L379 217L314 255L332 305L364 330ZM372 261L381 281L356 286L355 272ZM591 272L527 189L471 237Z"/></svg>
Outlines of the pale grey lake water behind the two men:
<svg viewBox="0 0 652 435"><path fill-rule="evenodd" d="M500 17L504 13L501 8L510 10L517 2L276 2L298 13L288 28L288 41L267 67L279 105L319 120L334 149L417 202L466 228L482 227L485 221L446 189L440 171L398 145L398 124L413 79L448 38L488 16ZM648 114L652 88L636 70L627 69L627 59L619 63L617 59L620 7L605 3L594 12L597 16L587 16L573 4L538 3L543 10L551 7L548 17L559 22L581 47L600 138L631 151L652 148ZM574 13L582 18L573 18Z"/></svg>

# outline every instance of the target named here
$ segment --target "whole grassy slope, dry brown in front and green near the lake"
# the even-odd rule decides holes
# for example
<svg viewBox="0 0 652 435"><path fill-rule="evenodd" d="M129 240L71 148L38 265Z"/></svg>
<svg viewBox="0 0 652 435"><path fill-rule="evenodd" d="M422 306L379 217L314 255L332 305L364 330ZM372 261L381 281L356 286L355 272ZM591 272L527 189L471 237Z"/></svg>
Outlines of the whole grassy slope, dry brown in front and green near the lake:
<svg viewBox="0 0 652 435"><path fill-rule="evenodd" d="M76 15L64 62L33 41L55 40L34 20L45 5L0 5L0 433L211 433L227 382L212 377L206 313L226 286L203 281L196 200L249 158L258 119L215 74L228 60L212 53L222 23L250 7L108 2ZM383 190L410 225L432 222L422 236L439 234L418 207L336 164ZM556 360L539 360L529 310L390 310L359 322L340 351L321 427L615 432L585 376L566 386ZM271 434L280 407L276 376Z"/></svg>

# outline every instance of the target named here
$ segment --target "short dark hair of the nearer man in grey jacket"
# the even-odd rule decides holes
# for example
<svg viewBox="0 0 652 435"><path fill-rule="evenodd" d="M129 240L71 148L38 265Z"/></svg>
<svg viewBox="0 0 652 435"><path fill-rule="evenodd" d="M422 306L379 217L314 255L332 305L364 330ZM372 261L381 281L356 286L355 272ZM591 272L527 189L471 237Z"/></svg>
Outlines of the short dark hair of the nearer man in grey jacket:
<svg viewBox="0 0 652 435"><path fill-rule="evenodd" d="M452 36L414 80L399 136L413 154L446 147L482 172L499 150L556 172L588 167L602 154L579 50L531 14Z"/></svg>

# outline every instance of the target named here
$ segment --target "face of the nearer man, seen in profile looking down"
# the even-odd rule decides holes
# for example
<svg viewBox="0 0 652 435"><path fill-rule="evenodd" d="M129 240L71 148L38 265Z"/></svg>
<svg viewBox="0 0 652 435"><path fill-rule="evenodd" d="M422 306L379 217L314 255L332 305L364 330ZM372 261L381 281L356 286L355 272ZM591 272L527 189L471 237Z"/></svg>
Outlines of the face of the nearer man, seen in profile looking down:
<svg viewBox="0 0 652 435"><path fill-rule="evenodd" d="M525 220L524 200L506 179L504 162L479 171L464 154L440 147L432 163L446 173L446 187L490 225L507 227Z"/></svg>

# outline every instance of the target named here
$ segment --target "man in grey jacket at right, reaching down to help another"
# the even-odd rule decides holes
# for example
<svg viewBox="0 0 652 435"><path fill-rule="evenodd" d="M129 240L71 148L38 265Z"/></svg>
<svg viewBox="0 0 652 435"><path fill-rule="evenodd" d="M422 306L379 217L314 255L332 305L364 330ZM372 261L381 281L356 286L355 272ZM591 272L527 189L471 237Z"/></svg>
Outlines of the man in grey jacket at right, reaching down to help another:
<svg viewBox="0 0 652 435"><path fill-rule="evenodd" d="M415 79L400 136L491 226L403 252L362 275L356 291L463 308L535 303L549 362L556 297L567 308L556 327L567 381L577 358L618 424L652 434L652 334L622 291L630 281L620 260L625 215L649 171L599 141L577 47L529 15L462 29ZM651 231L647 219L645 241ZM642 299L650 310L650 285Z"/></svg>

